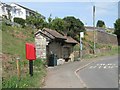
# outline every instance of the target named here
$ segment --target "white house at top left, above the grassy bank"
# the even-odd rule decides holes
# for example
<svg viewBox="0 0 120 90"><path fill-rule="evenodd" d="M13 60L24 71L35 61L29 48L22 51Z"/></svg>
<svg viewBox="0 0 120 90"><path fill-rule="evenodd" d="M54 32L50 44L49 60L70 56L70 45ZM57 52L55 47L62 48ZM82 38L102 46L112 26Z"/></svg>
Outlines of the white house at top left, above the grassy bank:
<svg viewBox="0 0 120 90"><path fill-rule="evenodd" d="M22 18L26 19L30 15L35 15L36 11L33 11L29 8L26 8L24 6L21 6L17 3L11 3L10 5L0 2L0 16L7 17L7 19L10 19L12 22L14 21L14 18ZM41 17L45 18L41 15Z"/></svg>

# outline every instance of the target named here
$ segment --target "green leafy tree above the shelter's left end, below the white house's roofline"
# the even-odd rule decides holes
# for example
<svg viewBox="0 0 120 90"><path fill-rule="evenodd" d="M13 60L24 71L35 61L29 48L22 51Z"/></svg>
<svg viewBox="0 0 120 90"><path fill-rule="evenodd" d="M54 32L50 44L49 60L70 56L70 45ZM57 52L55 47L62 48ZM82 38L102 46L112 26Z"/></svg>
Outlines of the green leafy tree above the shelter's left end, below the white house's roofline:
<svg viewBox="0 0 120 90"><path fill-rule="evenodd" d="M26 23L28 25L34 25L37 29L42 29L45 26L45 18L39 14L35 13L35 15L30 15L26 19Z"/></svg>

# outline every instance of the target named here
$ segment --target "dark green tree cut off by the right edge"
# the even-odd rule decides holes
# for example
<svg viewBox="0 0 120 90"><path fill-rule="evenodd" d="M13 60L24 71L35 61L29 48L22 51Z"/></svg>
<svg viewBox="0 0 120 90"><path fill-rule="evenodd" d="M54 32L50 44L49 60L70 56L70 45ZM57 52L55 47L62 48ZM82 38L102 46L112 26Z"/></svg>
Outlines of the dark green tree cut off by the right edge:
<svg viewBox="0 0 120 90"><path fill-rule="evenodd" d="M120 46L120 18L116 20L116 22L114 23L114 27L115 27L114 33L117 35L118 45Z"/></svg>

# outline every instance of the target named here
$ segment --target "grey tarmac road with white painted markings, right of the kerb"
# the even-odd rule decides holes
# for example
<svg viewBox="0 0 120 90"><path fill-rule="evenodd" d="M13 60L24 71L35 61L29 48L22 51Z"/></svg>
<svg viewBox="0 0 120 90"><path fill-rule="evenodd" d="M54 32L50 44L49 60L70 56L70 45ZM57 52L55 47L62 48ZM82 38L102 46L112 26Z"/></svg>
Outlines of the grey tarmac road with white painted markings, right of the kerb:
<svg viewBox="0 0 120 90"><path fill-rule="evenodd" d="M118 57L107 57L88 65L78 75L87 88L118 88Z"/></svg>

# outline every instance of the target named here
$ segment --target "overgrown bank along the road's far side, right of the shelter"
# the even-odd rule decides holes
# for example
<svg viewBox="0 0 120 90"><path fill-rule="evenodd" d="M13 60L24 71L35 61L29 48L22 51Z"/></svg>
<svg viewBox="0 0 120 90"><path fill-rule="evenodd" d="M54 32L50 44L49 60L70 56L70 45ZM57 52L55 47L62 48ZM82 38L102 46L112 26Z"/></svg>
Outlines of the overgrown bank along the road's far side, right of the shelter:
<svg viewBox="0 0 120 90"><path fill-rule="evenodd" d="M104 35L103 33L99 33L99 34L101 36ZM91 31L86 32L84 38L82 39L82 58L83 59L96 58L101 56L111 56L111 55L118 54L117 41L113 42L114 39L108 38L107 34L104 37L98 37L97 35L96 41L97 41L97 43L95 44L96 53L94 54L93 32ZM74 47L74 51L75 51L75 60L77 60L77 58L80 57L79 44Z"/></svg>

